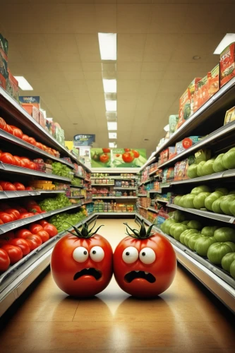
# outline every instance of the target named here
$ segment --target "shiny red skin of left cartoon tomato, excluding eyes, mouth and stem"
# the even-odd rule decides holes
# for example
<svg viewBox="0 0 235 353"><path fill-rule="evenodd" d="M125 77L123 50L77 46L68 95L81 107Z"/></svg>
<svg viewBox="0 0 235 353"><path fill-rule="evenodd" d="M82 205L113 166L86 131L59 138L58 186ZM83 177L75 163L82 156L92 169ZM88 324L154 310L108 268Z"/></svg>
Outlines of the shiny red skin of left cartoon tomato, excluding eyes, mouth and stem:
<svg viewBox="0 0 235 353"><path fill-rule="evenodd" d="M93 246L101 246L104 250L103 260L92 261L89 255L88 260L78 263L73 259L73 251L78 246L83 246L88 253ZM80 239L75 235L67 234L56 243L52 251L52 276L56 285L68 295L79 298L93 297L109 285L113 273L112 257L112 247L101 235L95 234L90 239ZM84 275L78 280L73 280L74 275L84 268L95 268L102 272L102 277L100 280L95 280L95 277Z"/></svg>

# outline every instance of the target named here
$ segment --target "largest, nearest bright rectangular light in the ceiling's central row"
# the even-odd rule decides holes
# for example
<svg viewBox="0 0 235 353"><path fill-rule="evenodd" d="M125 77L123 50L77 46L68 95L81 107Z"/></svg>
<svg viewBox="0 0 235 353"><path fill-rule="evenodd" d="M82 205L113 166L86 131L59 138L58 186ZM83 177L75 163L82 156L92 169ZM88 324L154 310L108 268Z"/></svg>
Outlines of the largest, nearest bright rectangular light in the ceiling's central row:
<svg viewBox="0 0 235 353"><path fill-rule="evenodd" d="M98 33L102 60L116 60L116 33Z"/></svg>

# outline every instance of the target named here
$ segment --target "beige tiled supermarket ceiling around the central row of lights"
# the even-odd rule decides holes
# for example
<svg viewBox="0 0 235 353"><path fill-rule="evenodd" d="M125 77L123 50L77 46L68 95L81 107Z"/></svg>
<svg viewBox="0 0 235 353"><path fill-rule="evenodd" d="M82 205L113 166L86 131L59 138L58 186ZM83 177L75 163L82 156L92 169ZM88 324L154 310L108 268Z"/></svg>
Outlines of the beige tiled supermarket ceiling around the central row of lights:
<svg viewBox="0 0 235 353"><path fill-rule="evenodd" d="M8 66L40 95L47 116L66 131L108 144L104 78L117 78L118 147L155 150L169 114L234 32L232 0L0 0ZM117 61L100 59L97 32L116 32ZM193 60L193 56L200 60ZM76 125L73 125L76 124ZM144 141L148 138L149 141Z"/></svg>

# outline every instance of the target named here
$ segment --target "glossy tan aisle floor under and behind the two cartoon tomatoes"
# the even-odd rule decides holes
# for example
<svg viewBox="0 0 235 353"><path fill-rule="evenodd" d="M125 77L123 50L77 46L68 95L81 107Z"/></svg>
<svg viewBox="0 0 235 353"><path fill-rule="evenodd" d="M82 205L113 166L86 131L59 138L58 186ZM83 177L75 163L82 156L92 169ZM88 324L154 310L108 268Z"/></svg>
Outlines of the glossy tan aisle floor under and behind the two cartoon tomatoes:
<svg viewBox="0 0 235 353"><path fill-rule="evenodd" d="M124 236L123 222L97 222L113 247ZM71 299L47 273L11 311L0 334L4 353L234 352L234 317L180 266L173 285L150 301L129 297L114 278L94 299Z"/></svg>

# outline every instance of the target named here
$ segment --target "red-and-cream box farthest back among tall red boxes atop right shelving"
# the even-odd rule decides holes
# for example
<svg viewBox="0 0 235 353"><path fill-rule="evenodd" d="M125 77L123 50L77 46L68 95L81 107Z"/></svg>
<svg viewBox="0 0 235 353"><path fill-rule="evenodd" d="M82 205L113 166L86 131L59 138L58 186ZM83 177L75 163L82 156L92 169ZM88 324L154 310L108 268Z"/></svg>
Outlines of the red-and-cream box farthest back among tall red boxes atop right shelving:
<svg viewBox="0 0 235 353"><path fill-rule="evenodd" d="M193 114L195 87L200 80L201 78L194 78L179 99L179 121L177 128L179 128Z"/></svg>

